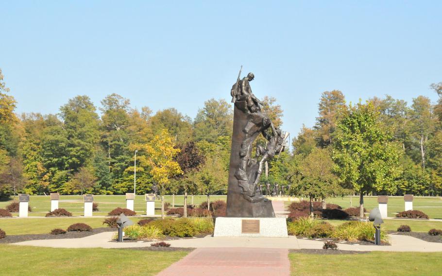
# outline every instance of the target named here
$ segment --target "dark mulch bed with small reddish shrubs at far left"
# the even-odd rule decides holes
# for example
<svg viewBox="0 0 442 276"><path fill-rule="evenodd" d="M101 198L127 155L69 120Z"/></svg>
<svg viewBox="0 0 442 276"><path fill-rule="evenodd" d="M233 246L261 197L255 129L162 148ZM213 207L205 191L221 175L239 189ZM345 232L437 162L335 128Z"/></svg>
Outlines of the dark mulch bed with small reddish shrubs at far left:
<svg viewBox="0 0 442 276"><path fill-rule="evenodd" d="M60 235L52 235L52 234L8 235L8 233L6 233L6 237L0 239L0 243L26 242L33 240L76 239L76 238L84 238L102 232L115 232L115 231L116 228L101 227L101 228L92 229L91 232L75 231L75 232L67 232L66 234L60 234Z"/></svg>

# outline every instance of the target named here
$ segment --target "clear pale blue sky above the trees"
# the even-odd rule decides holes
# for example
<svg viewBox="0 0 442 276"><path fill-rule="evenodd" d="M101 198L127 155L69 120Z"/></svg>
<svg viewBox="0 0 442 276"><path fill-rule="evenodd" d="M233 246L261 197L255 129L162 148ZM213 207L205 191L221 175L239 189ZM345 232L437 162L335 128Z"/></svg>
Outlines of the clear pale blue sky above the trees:
<svg viewBox="0 0 442 276"><path fill-rule="evenodd" d="M57 113L76 95L194 117L230 101L240 65L276 97L283 128L312 126L325 90L348 102L437 100L442 1L0 0L0 68L17 113Z"/></svg>

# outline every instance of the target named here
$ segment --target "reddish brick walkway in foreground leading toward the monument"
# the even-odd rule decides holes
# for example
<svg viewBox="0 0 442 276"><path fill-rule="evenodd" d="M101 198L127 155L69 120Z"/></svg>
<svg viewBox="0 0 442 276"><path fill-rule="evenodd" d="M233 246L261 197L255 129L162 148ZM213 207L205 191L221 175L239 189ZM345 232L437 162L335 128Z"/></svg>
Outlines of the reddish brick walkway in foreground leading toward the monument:
<svg viewBox="0 0 442 276"><path fill-rule="evenodd" d="M158 276L286 276L288 249L198 248Z"/></svg>

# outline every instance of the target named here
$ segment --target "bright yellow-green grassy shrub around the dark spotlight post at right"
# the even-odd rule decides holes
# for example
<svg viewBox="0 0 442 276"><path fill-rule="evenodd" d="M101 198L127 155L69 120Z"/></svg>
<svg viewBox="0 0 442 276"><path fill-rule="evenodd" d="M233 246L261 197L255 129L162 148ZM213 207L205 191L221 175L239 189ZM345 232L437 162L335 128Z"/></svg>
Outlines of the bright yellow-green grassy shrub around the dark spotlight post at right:
<svg viewBox="0 0 442 276"><path fill-rule="evenodd" d="M333 238L349 242L374 241L375 229L373 224L367 222L347 222L336 227L332 234ZM385 229L381 229L381 241L388 242Z"/></svg>

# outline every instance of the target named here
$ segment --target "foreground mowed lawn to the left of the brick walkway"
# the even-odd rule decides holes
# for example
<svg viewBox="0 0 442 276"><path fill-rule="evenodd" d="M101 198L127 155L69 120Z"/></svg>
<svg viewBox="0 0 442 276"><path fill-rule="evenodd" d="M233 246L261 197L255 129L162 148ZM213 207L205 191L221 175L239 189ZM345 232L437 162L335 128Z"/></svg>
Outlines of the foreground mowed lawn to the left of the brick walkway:
<svg viewBox="0 0 442 276"><path fill-rule="evenodd" d="M0 245L1 275L156 275L187 251Z"/></svg>

